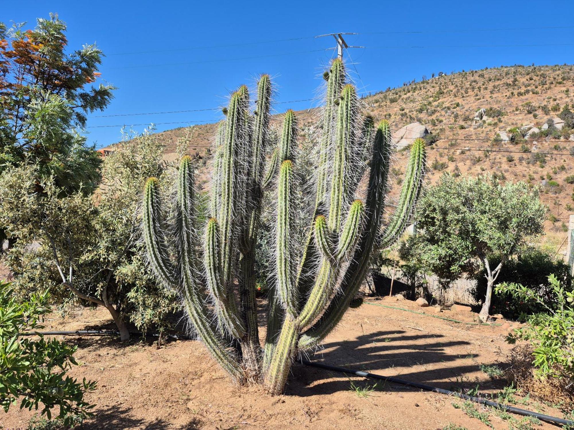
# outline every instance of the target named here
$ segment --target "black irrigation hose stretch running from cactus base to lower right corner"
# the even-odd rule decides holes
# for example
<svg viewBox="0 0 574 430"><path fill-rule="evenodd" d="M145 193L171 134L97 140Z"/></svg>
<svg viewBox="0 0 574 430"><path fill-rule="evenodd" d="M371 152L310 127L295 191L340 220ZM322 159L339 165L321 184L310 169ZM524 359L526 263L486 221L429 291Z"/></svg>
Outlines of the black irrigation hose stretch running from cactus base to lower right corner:
<svg viewBox="0 0 574 430"><path fill-rule="evenodd" d="M419 384L418 382L405 381L405 380L402 380L399 378L394 378L391 376L382 376L382 375L377 375L374 373L363 372L362 370L338 368L336 366L329 366L328 364L317 363L317 362L307 361L307 360L303 360L303 359L301 360L301 363L306 365L306 366L311 366L313 368L333 370L334 372L348 373L348 374L352 374L352 375L356 375L356 376L362 376L364 378L379 379L379 380L383 380L383 381L387 381L387 382L393 382L394 384L412 386L414 388L419 388L421 390L432 391L432 392L440 393L440 394L447 394L448 396L455 396L455 397L462 398L464 400L470 400L470 401L473 401L476 403L482 403L483 405L488 405L488 406L492 406L494 408L503 409L504 411L507 411L507 412L514 412L514 413L517 413L518 415L533 416L533 417L536 417L540 420L550 421L552 423L564 424L564 425L574 425L574 421L572 421L572 420L565 420L562 418L552 417L550 415L544 415L543 413L526 411L526 409L520 409L520 408L515 408L514 406L503 405L503 404L500 404L497 402L486 400L484 398L468 396L467 394L461 394L461 393L457 393L455 391L445 390L443 388L437 388L435 386Z"/></svg>

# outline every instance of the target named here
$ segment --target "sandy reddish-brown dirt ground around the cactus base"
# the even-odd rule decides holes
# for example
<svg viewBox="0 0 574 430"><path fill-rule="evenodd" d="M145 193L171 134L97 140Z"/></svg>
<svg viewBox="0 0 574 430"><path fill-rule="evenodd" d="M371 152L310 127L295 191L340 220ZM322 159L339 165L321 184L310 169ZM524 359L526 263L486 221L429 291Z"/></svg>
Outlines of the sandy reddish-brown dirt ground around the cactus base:
<svg viewBox="0 0 574 430"><path fill-rule="evenodd" d="M394 308L401 307L425 315ZM473 322L475 314L419 308L408 300L366 299L347 312L342 324L309 359L369 370L386 376L424 382L445 389L472 388L495 393L502 382L491 381L481 363L497 362L509 346L507 326L454 323L430 315ZM110 327L103 309L77 310L63 318L52 314L46 330ZM499 321L501 322L501 321ZM502 321L504 322L504 321ZM511 327L517 323L511 323ZM63 338L63 337L61 337ZM452 404L463 402L443 394L379 383L366 397L351 390L373 386L364 378L295 364L285 394L268 396L259 387L231 385L197 341L172 341L160 348L152 341L121 343L110 337L65 337L76 343L71 374L98 381L88 401L96 404L95 418L83 425L96 429L239 429L313 428L443 429L456 424L487 429ZM563 416L556 409L530 401L522 408ZM479 411L482 409L479 406ZM25 428L32 414L12 408L0 415L0 428ZM519 417L518 417L519 418ZM508 421L490 413L494 428ZM3 426L3 427L2 427ZM528 427L529 428L529 427ZM534 428L556 428L542 423Z"/></svg>

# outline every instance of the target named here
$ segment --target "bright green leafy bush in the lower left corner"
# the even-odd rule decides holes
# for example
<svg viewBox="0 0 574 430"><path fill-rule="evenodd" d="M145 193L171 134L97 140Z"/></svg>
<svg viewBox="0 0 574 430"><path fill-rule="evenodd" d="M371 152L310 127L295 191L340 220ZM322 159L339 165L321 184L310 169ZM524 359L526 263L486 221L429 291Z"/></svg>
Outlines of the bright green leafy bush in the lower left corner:
<svg viewBox="0 0 574 430"><path fill-rule="evenodd" d="M29 301L17 303L9 284L0 282L0 405L5 412L21 399L21 408L38 409L52 419L51 409L59 406L64 425L76 424L92 416L84 394L96 388L93 381L82 382L67 376L77 347L55 339L19 336L27 330L41 329L42 315L50 312L49 294L33 294Z"/></svg>

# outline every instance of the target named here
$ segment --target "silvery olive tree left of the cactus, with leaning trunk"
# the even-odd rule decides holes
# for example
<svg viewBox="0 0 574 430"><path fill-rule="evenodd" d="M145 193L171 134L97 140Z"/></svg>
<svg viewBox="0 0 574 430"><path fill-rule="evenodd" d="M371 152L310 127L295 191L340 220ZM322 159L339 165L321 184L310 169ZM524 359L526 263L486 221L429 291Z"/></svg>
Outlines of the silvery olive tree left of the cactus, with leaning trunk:
<svg viewBox="0 0 574 430"><path fill-rule="evenodd" d="M0 178L0 223L18 242L6 261L22 298L48 288L62 303L72 295L103 306L121 334L127 323L160 331L179 303L145 270L139 190L166 170L160 142L151 134L116 147L103 163L95 194L73 193L42 175L36 163L5 170ZM169 166L167 166L169 167ZM165 183L169 184L169 169Z"/></svg>

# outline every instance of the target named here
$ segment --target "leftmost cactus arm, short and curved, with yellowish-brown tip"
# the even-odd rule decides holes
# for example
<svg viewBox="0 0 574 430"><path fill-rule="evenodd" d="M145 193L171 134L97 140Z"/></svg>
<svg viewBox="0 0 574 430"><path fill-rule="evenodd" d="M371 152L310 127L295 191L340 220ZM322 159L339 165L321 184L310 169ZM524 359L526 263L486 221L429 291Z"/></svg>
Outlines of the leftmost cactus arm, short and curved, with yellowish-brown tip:
<svg viewBox="0 0 574 430"><path fill-rule="evenodd" d="M168 256L168 247L161 229L160 197L157 179L149 178L144 190L144 239L149 260L156 275L169 286L176 286L174 267Z"/></svg>

